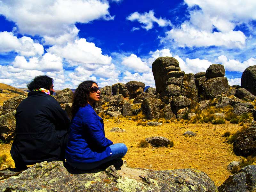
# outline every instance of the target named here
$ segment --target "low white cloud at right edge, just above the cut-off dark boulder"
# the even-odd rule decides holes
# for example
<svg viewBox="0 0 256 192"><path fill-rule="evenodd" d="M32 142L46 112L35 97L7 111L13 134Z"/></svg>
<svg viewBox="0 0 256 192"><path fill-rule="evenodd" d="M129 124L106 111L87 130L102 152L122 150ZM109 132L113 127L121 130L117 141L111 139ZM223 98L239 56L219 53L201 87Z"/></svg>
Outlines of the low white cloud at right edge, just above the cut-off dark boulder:
<svg viewBox="0 0 256 192"><path fill-rule="evenodd" d="M256 59L252 57L241 63L240 61L234 59L228 60L225 55L220 55L217 59L215 59L215 61L224 65L224 68L227 71L244 72L247 67L256 65Z"/></svg>

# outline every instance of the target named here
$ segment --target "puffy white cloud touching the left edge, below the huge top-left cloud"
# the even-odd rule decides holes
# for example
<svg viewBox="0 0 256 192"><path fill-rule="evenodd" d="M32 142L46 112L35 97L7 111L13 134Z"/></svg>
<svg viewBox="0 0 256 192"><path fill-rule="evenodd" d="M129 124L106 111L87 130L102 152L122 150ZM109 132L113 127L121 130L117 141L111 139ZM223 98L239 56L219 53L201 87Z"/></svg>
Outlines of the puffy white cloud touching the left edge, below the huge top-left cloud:
<svg viewBox="0 0 256 192"><path fill-rule="evenodd" d="M44 53L44 47L39 43L35 43L30 37L17 38L12 32L0 32L0 52L11 51L26 57L41 56Z"/></svg>

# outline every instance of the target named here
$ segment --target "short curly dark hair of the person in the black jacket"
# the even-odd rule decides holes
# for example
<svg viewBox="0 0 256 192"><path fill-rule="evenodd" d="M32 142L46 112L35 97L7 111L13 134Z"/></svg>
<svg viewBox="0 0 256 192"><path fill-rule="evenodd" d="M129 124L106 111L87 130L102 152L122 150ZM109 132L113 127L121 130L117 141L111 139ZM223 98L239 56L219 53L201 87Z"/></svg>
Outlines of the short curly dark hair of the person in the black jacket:
<svg viewBox="0 0 256 192"><path fill-rule="evenodd" d="M47 75L36 76L29 84L29 91L33 89L44 88L50 90L51 85L53 84L53 78L48 77Z"/></svg>

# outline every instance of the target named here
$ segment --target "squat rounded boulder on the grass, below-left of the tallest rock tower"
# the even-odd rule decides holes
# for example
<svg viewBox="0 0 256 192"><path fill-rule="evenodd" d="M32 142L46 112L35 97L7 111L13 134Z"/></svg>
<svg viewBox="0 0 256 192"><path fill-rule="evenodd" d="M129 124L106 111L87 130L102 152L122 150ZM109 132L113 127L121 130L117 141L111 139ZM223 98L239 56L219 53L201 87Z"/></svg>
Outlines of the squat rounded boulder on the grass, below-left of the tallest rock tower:
<svg viewBox="0 0 256 192"><path fill-rule="evenodd" d="M142 114L144 114L147 119L154 119L163 116L161 114L161 109L163 108L164 103L160 99L147 98L141 103Z"/></svg>

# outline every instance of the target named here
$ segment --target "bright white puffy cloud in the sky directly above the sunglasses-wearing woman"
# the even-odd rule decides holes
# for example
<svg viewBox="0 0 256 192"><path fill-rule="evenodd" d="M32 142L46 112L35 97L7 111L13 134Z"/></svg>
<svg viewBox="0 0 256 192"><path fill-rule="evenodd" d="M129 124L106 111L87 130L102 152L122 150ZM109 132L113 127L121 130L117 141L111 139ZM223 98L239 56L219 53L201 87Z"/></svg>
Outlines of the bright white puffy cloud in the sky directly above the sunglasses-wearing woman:
<svg viewBox="0 0 256 192"><path fill-rule="evenodd" d="M86 39L75 40L66 46L54 45L47 50L49 53L65 58L71 66L82 65L87 68L97 68L98 65L111 65L111 57L102 55L101 49Z"/></svg>

